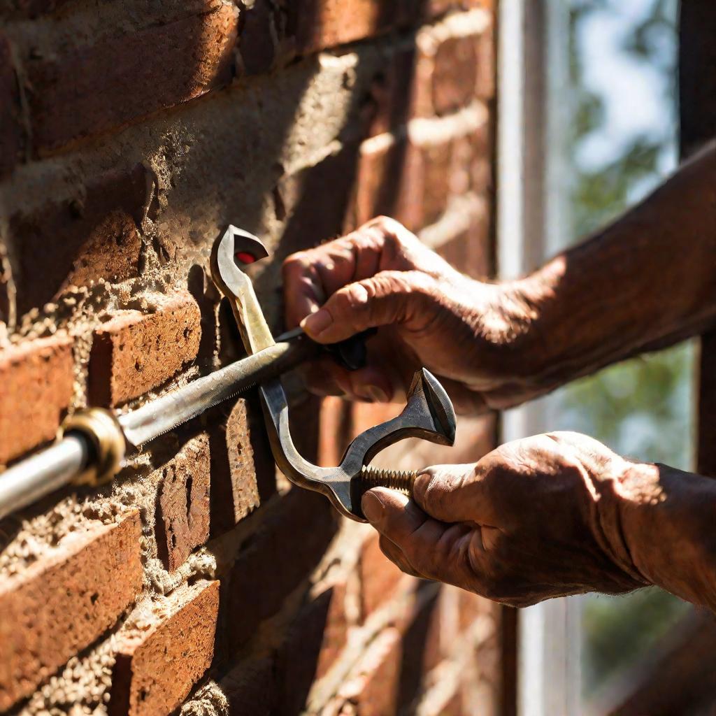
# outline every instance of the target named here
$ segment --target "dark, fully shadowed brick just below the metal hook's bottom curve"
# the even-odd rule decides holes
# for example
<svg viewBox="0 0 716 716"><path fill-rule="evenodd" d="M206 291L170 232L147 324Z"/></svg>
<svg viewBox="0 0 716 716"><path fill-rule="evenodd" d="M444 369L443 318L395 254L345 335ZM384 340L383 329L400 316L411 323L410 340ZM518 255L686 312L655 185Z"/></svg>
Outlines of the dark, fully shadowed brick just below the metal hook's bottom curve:
<svg viewBox="0 0 716 716"><path fill-rule="evenodd" d="M231 569L232 651L245 644L261 621L276 614L286 596L309 576L337 528L337 512L323 495L296 488L283 498L279 513L261 527Z"/></svg>

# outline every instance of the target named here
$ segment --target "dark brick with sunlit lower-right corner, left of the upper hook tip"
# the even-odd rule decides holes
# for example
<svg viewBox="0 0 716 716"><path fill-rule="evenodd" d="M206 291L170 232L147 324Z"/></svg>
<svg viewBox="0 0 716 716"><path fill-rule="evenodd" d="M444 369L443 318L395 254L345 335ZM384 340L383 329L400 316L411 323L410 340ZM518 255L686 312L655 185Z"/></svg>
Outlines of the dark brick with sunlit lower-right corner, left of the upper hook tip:
<svg viewBox="0 0 716 716"><path fill-rule="evenodd" d="M72 200L50 199L32 214L12 216L18 311L41 307L70 285L136 276L150 181L142 165L108 172Z"/></svg>

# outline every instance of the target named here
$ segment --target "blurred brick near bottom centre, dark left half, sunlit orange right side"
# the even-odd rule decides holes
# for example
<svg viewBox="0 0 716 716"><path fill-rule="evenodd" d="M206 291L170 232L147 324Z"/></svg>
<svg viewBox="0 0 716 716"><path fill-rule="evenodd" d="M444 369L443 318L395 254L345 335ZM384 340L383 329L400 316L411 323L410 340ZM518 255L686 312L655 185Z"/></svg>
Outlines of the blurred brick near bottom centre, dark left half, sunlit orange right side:
<svg viewBox="0 0 716 716"><path fill-rule="evenodd" d="M281 647L276 682L280 713L299 713L311 683L332 667L347 643L346 586L337 584L306 604Z"/></svg>

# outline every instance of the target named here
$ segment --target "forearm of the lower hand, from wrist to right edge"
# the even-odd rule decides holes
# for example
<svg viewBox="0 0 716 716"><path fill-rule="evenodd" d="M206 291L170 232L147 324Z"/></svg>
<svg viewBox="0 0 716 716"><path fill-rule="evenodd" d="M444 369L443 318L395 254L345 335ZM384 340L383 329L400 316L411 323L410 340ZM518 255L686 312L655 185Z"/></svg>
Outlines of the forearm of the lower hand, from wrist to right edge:
<svg viewBox="0 0 716 716"><path fill-rule="evenodd" d="M613 488L601 512L619 561L645 583L716 611L716 480L633 465Z"/></svg>

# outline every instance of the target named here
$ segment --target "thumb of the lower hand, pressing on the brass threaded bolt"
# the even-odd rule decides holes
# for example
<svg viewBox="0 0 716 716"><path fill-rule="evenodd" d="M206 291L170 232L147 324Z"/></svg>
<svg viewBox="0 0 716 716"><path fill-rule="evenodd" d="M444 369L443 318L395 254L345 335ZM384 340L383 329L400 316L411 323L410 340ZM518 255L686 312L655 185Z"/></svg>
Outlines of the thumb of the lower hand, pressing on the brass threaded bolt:
<svg viewBox="0 0 716 716"><path fill-rule="evenodd" d="M415 478L413 498L441 522L484 523L488 512L485 485L475 465L435 465Z"/></svg>

